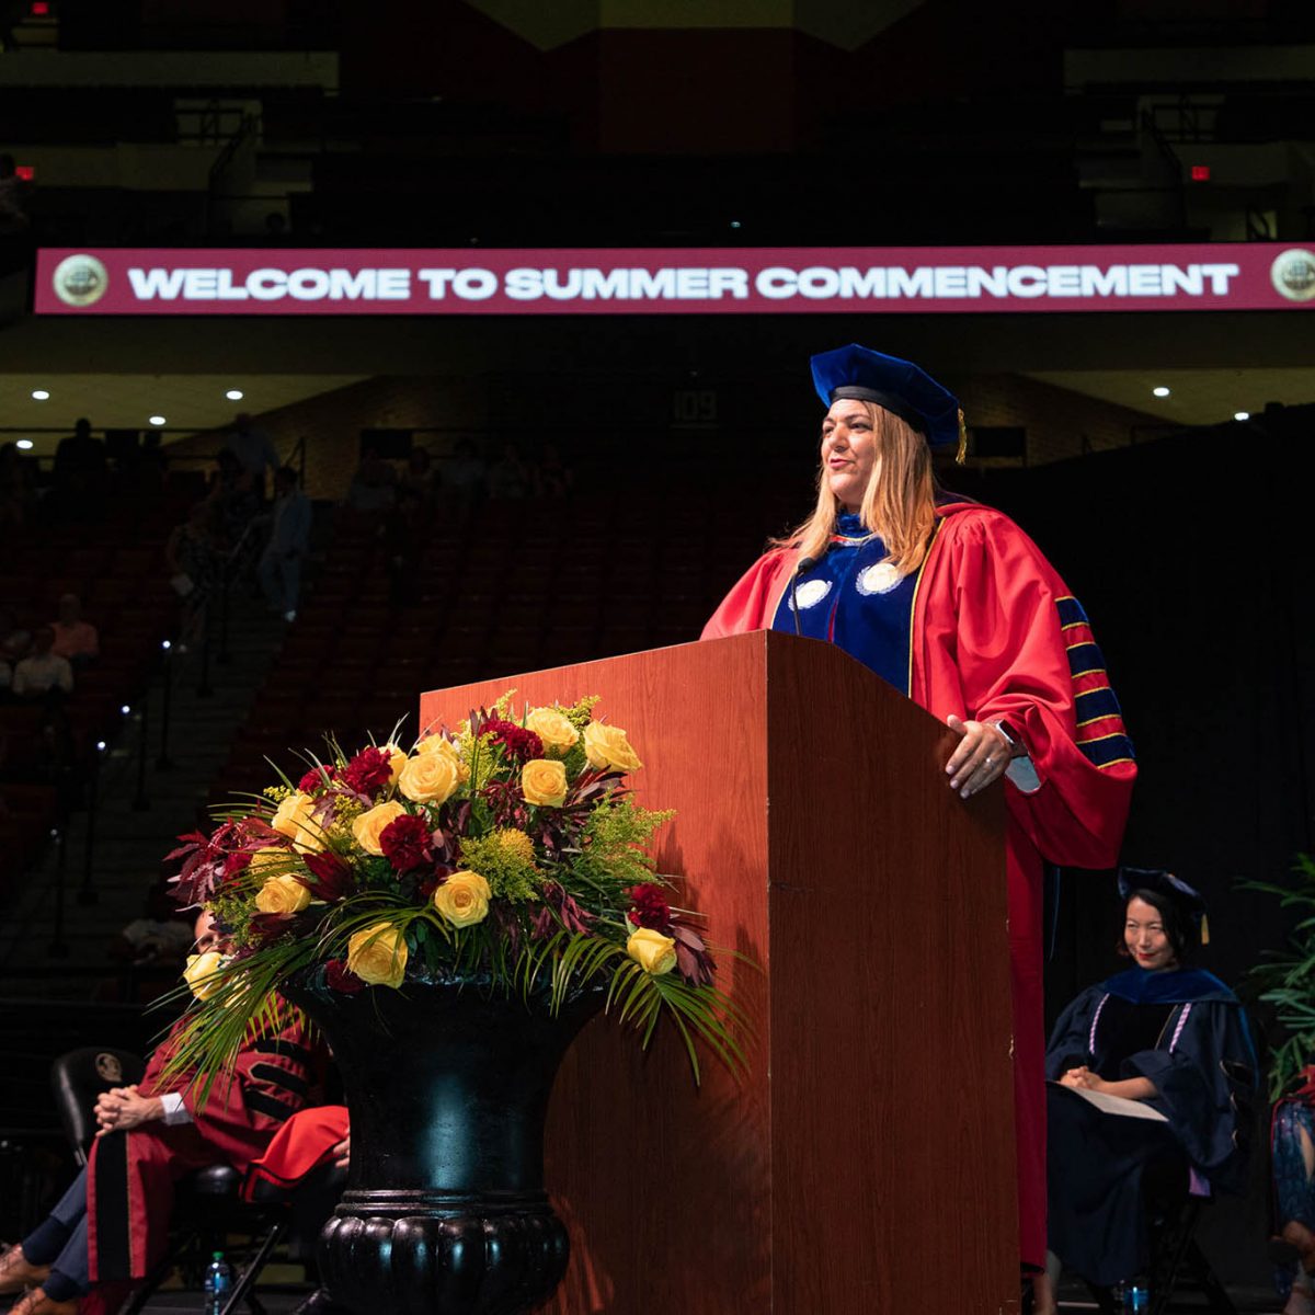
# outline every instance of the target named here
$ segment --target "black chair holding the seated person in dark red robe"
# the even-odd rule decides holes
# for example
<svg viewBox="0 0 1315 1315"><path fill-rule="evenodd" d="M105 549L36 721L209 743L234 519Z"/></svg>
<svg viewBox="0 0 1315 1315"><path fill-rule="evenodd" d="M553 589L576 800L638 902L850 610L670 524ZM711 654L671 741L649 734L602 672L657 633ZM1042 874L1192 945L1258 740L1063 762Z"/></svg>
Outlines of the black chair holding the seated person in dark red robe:
<svg viewBox="0 0 1315 1315"><path fill-rule="evenodd" d="M55 1106L80 1165L87 1164L96 1136L92 1112L96 1097L110 1088L130 1086L141 1080L145 1070L139 1056L95 1045L68 1051L51 1064ZM291 1191L263 1182L258 1185L254 1201L242 1199L242 1174L226 1164L185 1174L176 1185L164 1258L133 1294L125 1315L138 1315L175 1266L181 1266L200 1283L212 1253L226 1249L224 1243L234 1233L250 1239L250 1245L245 1248L243 1262L234 1266L233 1290L224 1303L222 1315L230 1315L243 1301L255 1315L264 1315L255 1283L287 1231L291 1201Z"/></svg>

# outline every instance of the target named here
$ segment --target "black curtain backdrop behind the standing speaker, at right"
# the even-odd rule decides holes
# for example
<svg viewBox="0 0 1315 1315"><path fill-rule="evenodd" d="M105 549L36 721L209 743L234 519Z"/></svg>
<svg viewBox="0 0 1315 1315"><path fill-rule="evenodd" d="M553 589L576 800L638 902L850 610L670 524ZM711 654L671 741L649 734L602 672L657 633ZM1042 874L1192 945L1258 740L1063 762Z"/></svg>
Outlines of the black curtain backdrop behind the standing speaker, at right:
<svg viewBox="0 0 1315 1315"><path fill-rule="evenodd" d="M1027 529L1082 600L1137 748L1124 861L1210 902L1203 964L1233 985L1291 919L1236 889L1310 851L1315 569L1298 471L1315 406L969 489ZM961 483L961 481L960 481ZM1065 872L1051 1016L1115 967L1112 880Z"/></svg>

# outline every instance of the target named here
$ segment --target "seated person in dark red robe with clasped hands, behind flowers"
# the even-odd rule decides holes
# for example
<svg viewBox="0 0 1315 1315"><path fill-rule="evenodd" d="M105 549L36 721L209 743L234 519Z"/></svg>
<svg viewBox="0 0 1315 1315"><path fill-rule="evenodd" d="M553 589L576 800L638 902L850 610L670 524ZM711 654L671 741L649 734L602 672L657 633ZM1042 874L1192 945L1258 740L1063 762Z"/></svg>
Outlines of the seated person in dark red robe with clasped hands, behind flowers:
<svg viewBox="0 0 1315 1315"><path fill-rule="evenodd" d="M220 948L209 914L197 918L196 938L203 955ZM0 1256L0 1295L21 1294L11 1315L113 1315L164 1255L174 1184L213 1164L245 1172L306 1103L320 1064L300 1011L289 1009L277 1034L252 1031L231 1078L204 1103L195 1074L163 1081L180 1026L141 1082L100 1095L87 1168Z"/></svg>

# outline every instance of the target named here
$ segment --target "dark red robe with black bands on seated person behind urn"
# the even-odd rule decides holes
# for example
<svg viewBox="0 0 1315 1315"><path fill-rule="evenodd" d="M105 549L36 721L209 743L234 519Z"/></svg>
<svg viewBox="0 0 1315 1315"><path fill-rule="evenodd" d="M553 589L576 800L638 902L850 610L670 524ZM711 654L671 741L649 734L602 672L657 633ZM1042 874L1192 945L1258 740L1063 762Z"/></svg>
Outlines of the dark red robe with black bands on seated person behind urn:
<svg viewBox="0 0 1315 1315"><path fill-rule="evenodd" d="M183 1073L162 1085L181 1023L156 1047L138 1084L142 1095L179 1091L191 1123L145 1123L92 1144L87 1165L91 1278L145 1278L164 1255L174 1184L212 1164L243 1172L291 1115L306 1103L317 1076L306 1023L291 1011L281 1031L252 1035L231 1080L216 1081L204 1105Z"/></svg>

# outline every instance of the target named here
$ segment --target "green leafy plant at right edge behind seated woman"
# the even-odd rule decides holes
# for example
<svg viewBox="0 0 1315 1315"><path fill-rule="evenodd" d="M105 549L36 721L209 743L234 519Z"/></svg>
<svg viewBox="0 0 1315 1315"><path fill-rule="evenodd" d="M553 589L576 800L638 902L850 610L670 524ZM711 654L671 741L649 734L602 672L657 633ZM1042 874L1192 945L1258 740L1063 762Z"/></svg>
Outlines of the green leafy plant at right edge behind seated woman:
<svg viewBox="0 0 1315 1315"><path fill-rule="evenodd" d="M1299 853L1286 882L1244 881L1239 889L1277 896L1299 915L1287 945L1266 951L1266 961L1251 970L1260 999L1274 1006L1289 1032L1269 1066L1269 1095L1277 1101L1315 1057L1315 859Z"/></svg>

